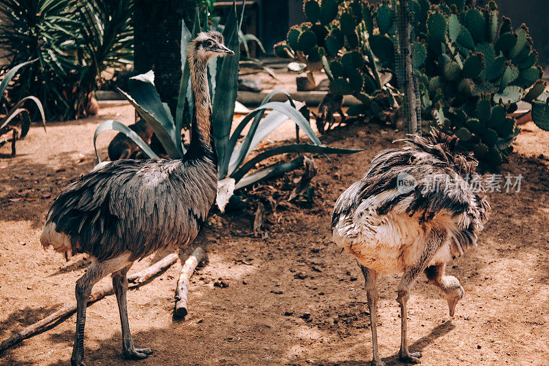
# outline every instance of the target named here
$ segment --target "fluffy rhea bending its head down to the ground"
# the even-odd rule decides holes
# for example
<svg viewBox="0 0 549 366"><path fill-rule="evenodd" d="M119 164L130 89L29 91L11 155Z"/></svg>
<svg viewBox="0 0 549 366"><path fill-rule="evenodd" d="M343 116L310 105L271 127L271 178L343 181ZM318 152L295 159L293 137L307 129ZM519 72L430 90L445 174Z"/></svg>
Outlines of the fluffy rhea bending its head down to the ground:
<svg viewBox="0 0 549 366"><path fill-rule="evenodd" d="M445 275L447 262L476 245L490 206L476 187L477 161L457 137L432 130L408 137L403 148L380 152L364 177L338 198L331 219L334 241L353 255L366 280L373 343L373 365L384 365L377 351L378 275L403 273L397 289L401 309L399 358L419 363L406 343L406 301L421 272L443 290L450 317L464 290Z"/></svg>

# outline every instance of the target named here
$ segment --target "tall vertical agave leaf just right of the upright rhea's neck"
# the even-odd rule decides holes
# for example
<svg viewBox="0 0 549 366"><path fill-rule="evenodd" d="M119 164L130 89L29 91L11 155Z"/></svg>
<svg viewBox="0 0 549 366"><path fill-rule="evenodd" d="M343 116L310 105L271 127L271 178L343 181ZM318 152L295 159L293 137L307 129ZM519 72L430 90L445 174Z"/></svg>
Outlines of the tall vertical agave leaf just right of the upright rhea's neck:
<svg viewBox="0 0 549 366"><path fill-rule="evenodd" d="M244 6L244 5L243 5ZM218 58L217 80L215 98L213 98L213 137L215 147L218 150L218 161L220 165L220 177L227 174L226 168L229 165L227 146L229 135L233 125L235 101L238 90L238 62L240 60L240 45L238 42L239 21L237 19L236 5L229 11L225 22L224 38L225 45L235 52L235 56Z"/></svg>

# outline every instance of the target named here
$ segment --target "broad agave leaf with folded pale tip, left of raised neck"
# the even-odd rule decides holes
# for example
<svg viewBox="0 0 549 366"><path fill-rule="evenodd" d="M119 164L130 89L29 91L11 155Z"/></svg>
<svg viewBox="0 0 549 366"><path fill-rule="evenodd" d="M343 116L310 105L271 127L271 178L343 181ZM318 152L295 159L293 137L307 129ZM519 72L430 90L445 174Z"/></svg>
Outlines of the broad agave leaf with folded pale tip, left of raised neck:
<svg viewBox="0 0 549 366"><path fill-rule="evenodd" d="M173 159L178 159L183 157L183 148L180 143L181 137L176 139L174 136L174 120L170 113L167 113L160 100L159 93L154 88L154 84L152 83L153 77L154 73L149 71L148 73L130 78L131 95L121 89L118 89L118 91L152 127L167 154Z"/></svg>

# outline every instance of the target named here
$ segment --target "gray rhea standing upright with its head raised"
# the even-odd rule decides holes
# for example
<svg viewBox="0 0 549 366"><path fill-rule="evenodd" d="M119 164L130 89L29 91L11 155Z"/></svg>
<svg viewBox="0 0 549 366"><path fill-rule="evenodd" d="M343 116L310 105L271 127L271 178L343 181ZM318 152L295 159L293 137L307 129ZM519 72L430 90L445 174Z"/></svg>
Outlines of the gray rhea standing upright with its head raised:
<svg viewBox="0 0 549 366"><path fill-rule="evenodd" d="M91 265L76 282L78 312L72 365L84 365L84 323L91 289L113 277L125 358L145 358L128 325L126 273L135 260L156 250L188 244L198 234L215 200L217 153L213 144L207 62L233 55L219 32L202 32L187 57L194 93L191 145L183 159L113 161L71 183L47 215L40 242L56 251L88 253Z"/></svg>

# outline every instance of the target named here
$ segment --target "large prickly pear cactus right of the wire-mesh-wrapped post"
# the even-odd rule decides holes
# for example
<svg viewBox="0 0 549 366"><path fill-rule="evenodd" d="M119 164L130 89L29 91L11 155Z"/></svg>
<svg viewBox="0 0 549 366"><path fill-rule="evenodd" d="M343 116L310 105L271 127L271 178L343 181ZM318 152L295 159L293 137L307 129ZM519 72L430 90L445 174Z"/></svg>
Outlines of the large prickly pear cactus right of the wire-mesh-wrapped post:
<svg viewBox="0 0 549 366"><path fill-rule="evenodd" d="M498 23L493 1L485 8L469 8L465 1L437 3L426 9L425 1L410 1L422 115L433 115L434 124L496 168L519 132L508 117L517 102L533 103L533 119L549 128L549 106L537 100L545 89L537 52L525 25L513 30L506 17Z"/></svg>

